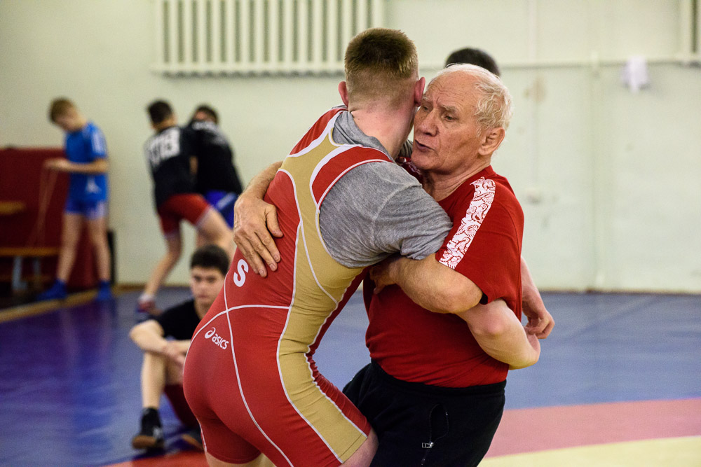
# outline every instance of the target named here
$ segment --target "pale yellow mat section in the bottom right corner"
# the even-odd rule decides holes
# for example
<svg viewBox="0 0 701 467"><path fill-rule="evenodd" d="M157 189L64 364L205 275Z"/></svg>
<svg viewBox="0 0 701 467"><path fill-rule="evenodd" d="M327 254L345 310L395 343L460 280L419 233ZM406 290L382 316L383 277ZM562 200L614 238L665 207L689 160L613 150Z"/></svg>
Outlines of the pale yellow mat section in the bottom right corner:
<svg viewBox="0 0 701 467"><path fill-rule="evenodd" d="M701 436L489 457L480 467L701 467Z"/></svg>

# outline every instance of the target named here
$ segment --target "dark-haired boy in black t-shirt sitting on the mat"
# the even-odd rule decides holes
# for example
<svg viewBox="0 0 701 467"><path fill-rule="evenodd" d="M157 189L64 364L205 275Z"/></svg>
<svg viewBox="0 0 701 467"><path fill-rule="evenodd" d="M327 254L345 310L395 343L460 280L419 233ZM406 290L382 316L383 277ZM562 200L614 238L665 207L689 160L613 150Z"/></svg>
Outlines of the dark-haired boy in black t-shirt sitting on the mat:
<svg viewBox="0 0 701 467"><path fill-rule="evenodd" d="M189 428L182 439L202 449L200 428L182 390L182 368L190 339L202 316L224 286L229 256L216 245L200 246L190 260L190 290L193 298L163 314L134 326L129 337L144 351L141 370L141 430L132 439L135 449L160 449L164 445L158 407L165 393L173 411ZM172 337L172 340L167 340Z"/></svg>

